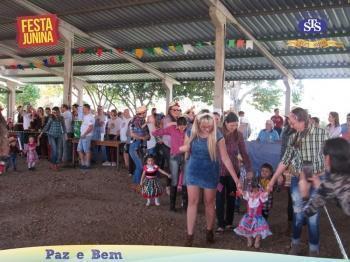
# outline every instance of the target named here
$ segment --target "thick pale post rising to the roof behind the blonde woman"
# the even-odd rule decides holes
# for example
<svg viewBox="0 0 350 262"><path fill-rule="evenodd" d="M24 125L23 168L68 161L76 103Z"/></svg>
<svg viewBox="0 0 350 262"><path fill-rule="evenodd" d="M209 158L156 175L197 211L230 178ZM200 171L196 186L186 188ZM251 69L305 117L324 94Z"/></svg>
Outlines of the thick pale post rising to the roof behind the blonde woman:
<svg viewBox="0 0 350 262"><path fill-rule="evenodd" d="M215 26L214 111L222 113L224 109L226 17L215 6L210 7L209 14Z"/></svg>

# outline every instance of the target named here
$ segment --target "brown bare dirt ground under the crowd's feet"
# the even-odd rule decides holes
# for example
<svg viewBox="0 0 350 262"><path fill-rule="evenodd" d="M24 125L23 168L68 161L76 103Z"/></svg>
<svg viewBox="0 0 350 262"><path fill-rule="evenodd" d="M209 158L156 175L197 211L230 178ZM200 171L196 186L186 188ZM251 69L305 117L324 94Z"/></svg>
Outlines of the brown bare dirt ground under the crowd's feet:
<svg viewBox="0 0 350 262"><path fill-rule="evenodd" d="M186 234L185 212L172 213L169 199L160 207L146 207L144 199L130 189L126 170L94 166L86 174L79 169L49 169L41 160L35 171L27 171L23 160L19 172L0 176L0 249L70 244L139 244L181 246ZM286 191L275 193L270 226L273 236L262 242L260 251L287 253L290 238L286 229ZM180 201L178 202L178 206ZM350 253L349 217L328 204L343 244ZM235 224L241 215L235 214ZM307 254L306 228L303 249ZM251 250L245 239L233 232L216 235L216 243L205 243L205 219L201 205L195 246ZM321 214L321 256L341 258L324 212Z"/></svg>

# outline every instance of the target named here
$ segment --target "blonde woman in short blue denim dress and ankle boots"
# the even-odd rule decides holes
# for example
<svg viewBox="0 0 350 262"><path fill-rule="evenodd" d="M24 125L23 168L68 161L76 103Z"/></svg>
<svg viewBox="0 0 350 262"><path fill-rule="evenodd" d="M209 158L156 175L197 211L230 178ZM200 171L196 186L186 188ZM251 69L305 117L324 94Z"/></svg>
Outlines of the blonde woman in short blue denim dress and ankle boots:
<svg viewBox="0 0 350 262"><path fill-rule="evenodd" d="M193 233L201 189L204 191L207 222L206 241L211 244L214 242L213 228L215 223L215 195L219 183L219 156L235 181L238 190L241 190L241 184L227 155L225 139L222 133L217 130L212 114L204 113L196 117L192 129L186 134L184 146L180 150L186 152L188 157L185 170L188 190L185 246L193 245Z"/></svg>

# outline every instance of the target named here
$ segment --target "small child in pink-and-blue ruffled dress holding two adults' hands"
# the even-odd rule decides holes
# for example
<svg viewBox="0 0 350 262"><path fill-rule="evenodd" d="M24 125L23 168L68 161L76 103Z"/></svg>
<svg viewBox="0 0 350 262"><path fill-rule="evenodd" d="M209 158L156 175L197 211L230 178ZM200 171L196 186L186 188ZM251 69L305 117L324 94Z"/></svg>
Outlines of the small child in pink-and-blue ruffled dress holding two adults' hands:
<svg viewBox="0 0 350 262"><path fill-rule="evenodd" d="M247 213L242 217L234 231L247 238L248 247L253 246L255 239L254 247L260 248L261 239L272 235L269 224L262 216L264 203L268 200L268 193L259 190L257 183L253 183L250 192L243 192L243 199L247 201Z"/></svg>

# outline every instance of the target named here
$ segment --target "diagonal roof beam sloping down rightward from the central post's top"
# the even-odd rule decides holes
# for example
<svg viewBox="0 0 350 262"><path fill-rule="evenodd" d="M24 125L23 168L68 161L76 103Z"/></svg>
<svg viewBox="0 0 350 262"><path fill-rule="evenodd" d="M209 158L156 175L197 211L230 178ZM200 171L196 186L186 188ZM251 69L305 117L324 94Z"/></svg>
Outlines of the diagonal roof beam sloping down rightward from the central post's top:
<svg viewBox="0 0 350 262"><path fill-rule="evenodd" d="M227 20L235 25L235 27L243 33L248 39L254 42L256 48L269 60L275 68L289 80L294 81L293 74L278 61L238 20L230 13L230 11L221 3L220 0L208 0L212 6L215 6L220 12L226 16Z"/></svg>

